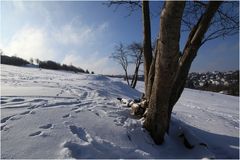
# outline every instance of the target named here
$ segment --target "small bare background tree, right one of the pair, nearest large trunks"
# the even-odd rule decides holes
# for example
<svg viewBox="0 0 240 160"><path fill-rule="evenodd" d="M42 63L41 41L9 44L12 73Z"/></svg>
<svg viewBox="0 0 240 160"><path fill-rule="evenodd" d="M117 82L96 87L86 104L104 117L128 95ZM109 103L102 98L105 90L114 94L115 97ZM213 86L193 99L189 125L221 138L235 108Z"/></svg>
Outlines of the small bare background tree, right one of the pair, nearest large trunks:
<svg viewBox="0 0 240 160"><path fill-rule="evenodd" d="M135 70L131 81L131 87L135 88L138 81L138 72L141 64L143 64L143 47L141 43L133 42L128 46L131 63L135 64Z"/></svg>

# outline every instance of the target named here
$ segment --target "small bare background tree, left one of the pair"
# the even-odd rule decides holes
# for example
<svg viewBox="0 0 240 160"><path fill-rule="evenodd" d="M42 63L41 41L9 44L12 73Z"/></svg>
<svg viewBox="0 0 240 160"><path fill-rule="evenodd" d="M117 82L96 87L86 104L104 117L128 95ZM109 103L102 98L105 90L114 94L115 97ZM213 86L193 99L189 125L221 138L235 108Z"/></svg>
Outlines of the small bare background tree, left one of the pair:
<svg viewBox="0 0 240 160"><path fill-rule="evenodd" d="M116 45L115 50L110 56L110 58L112 58L122 66L125 73L125 79L127 81L127 84L129 85L129 79L128 79L129 59L128 59L128 53L127 53L126 47L124 47L122 43L119 43L118 45Z"/></svg>

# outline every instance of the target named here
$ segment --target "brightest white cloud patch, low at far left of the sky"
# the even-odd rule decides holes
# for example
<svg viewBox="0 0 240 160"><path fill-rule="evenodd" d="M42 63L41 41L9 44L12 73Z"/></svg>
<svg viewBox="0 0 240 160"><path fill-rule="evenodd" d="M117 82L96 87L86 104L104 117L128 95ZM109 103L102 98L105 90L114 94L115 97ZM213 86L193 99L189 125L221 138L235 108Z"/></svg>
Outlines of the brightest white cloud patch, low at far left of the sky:
<svg viewBox="0 0 240 160"><path fill-rule="evenodd" d="M21 58L40 58L42 60L56 58L56 53L49 45L47 32L36 27L25 26L12 37L10 42L3 46L8 55L17 55Z"/></svg>

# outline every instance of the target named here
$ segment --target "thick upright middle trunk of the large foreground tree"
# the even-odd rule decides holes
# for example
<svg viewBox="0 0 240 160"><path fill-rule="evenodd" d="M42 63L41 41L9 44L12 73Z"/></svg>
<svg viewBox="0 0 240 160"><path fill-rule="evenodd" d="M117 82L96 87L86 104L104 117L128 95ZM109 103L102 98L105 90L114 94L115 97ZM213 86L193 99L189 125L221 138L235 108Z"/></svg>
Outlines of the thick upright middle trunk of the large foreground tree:
<svg viewBox="0 0 240 160"><path fill-rule="evenodd" d="M157 44L155 76L144 127L156 144L164 141L168 127L168 106L178 58L181 18L185 2L167 1L160 17L160 39Z"/></svg>

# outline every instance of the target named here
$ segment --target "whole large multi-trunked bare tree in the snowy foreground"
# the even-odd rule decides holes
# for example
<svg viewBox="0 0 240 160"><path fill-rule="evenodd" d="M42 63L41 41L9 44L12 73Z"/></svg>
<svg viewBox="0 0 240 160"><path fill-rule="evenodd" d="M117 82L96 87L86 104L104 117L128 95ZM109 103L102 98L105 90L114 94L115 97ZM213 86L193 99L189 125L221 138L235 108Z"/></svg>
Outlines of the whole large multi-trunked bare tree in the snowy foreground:
<svg viewBox="0 0 240 160"><path fill-rule="evenodd" d="M230 7L226 7L227 5ZM238 3L164 2L154 58L150 51L148 1L143 1L141 6L145 98L148 103L144 127L150 132L155 143L161 144L169 130L173 106L183 92L188 72L199 48L209 40L239 32ZM181 26L189 31L183 51L179 49Z"/></svg>

